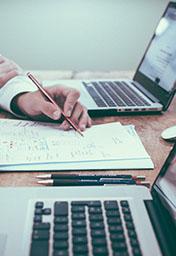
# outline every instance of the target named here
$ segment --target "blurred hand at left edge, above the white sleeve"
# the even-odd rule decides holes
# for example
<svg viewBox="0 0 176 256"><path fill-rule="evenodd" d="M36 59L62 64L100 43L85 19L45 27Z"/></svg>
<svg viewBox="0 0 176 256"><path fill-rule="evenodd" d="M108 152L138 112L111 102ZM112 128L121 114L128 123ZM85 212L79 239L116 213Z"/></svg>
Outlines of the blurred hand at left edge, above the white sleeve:
<svg viewBox="0 0 176 256"><path fill-rule="evenodd" d="M21 73L22 69L15 62L0 55L0 88Z"/></svg>

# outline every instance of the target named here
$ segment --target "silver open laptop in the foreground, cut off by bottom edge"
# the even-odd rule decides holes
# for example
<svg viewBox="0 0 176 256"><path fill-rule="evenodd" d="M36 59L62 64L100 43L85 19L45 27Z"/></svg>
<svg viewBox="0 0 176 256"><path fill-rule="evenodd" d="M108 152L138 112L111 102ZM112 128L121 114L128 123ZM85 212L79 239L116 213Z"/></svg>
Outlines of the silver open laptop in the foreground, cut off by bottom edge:
<svg viewBox="0 0 176 256"><path fill-rule="evenodd" d="M0 255L175 255L176 145L144 186L0 188Z"/></svg>

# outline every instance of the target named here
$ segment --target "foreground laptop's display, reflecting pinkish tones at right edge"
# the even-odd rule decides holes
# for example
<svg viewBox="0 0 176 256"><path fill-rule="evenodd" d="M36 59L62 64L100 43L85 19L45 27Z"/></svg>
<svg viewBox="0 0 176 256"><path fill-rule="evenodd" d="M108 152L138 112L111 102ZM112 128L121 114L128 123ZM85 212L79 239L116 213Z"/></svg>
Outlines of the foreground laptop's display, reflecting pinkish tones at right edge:
<svg viewBox="0 0 176 256"><path fill-rule="evenodd" d="M153 188L176 224L176 144L166 159Z"/></svg>

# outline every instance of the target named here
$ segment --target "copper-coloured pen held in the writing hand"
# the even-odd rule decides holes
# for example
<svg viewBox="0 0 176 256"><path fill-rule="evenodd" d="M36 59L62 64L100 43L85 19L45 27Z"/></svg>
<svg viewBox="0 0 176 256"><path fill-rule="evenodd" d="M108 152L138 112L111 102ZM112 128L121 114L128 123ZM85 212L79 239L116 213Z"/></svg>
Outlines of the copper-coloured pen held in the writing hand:
<svg viewBox="0 0 176 256"><path fill-rule="evenodd" d="M42 84L41 84L30 72L27 73L27 76L28 76L28 77L31 79L31 81L37 86L37 88L39 89L39 91L40 91L51 103L53 103L54 105L56 105L56 106L58 107L57 103L56 103L56 102L53 100L53 98L48 94L48 92L43 88ZM80 131L80 129L77 127L77 125L74 124L74 123L72 122L72 120L64 114L64 112L63 112L62 109L60 109L60 110L61 110L62 116L64 116L64 118L65 118L65 119L67 120L67 122L74 128L74 130L77 131L81 136L83 136L83 133Z"/></svg>

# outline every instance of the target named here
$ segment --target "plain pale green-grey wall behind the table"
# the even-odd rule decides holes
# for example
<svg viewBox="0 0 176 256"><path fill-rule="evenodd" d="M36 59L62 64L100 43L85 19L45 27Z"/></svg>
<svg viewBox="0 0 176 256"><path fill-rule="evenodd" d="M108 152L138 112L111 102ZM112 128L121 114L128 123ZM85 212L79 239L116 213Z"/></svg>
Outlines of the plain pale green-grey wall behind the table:
<svg viewBox="0 0 176 256"><path fill-rule="evenodd" d="M135 69L167 0L0 0L0 53L25 69Z"/></svg>

